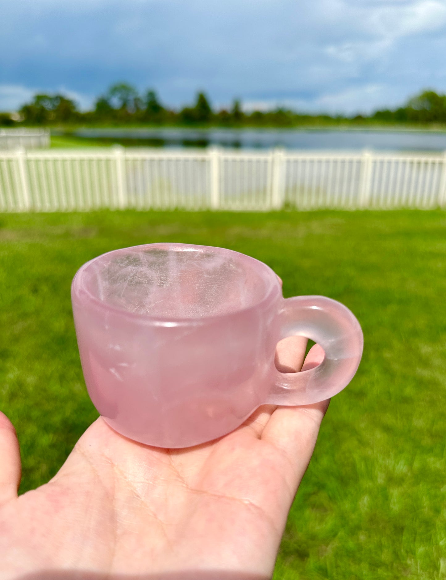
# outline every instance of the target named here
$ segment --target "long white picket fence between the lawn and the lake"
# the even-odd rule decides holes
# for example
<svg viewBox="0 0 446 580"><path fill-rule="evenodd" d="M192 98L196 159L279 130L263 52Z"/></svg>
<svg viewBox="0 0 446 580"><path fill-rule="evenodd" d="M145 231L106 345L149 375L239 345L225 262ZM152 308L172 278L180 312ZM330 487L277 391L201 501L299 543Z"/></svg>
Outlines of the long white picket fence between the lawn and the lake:
<svg viewBox="0 0 446 580"><path fill-rule="evenodd" d="M0 152L0 211L446 206L446 153L95 150Z"/></svg>

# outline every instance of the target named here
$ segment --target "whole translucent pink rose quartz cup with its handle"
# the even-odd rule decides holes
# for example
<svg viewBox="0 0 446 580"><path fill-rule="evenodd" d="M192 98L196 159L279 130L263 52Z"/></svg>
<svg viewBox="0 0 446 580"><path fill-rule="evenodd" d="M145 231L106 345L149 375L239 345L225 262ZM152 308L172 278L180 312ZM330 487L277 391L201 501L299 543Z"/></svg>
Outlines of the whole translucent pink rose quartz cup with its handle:
<svg viewBox="0 0 446 580"><path fill-rule="evenodd" d="M363 333L324 296L284 299L264 263L228 249L148 244L105 253L74 277L85 382L107 423L157 447L189 447L236 429L264 403L305 405L338 393L359 365ZM277 342L325 351L283 374Z"/></svg>

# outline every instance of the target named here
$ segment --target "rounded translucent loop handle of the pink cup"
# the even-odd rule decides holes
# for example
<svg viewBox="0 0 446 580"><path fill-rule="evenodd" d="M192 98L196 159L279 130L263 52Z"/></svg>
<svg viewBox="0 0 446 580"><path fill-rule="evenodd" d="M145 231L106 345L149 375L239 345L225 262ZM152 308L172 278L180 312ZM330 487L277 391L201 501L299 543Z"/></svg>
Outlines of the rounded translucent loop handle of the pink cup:
<svg viewBox="0 0 446 580"><path fill-rule="evenodd" d="M339 393L352 380L363 353L363 332L356 317L326 296L296 296L283 301L281 337L305 336L319 344L324 360L308 371L276 371L266 403L308 405Z"/></svg>

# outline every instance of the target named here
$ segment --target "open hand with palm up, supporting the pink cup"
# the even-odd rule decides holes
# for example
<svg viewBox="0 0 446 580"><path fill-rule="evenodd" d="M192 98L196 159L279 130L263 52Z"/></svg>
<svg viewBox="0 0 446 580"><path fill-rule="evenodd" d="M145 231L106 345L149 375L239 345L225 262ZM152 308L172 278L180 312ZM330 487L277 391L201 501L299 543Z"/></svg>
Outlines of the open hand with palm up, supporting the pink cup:
<svg viewBox="0 0 446 580"><path fill-rule="evenodd" d="M300 370L305 346L279 343L279 367ZM321 358L314 346L304 368ZM0 579L269 578L327 405L261 407L175 450L99 418L49 483L19 497L19 446L0 414Z"/></svg>

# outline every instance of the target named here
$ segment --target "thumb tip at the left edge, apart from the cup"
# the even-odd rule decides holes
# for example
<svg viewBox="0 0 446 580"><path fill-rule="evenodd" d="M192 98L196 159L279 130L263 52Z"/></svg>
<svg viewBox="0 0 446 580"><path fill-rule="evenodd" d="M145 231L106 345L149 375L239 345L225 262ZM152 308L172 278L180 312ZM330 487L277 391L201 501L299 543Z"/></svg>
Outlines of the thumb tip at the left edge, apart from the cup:
<svg viewBox="0 0 446 580"><path fill-rule="evenodd" d="M0 411L0 504L17 497L21 477L16 430Z"/></svg>

